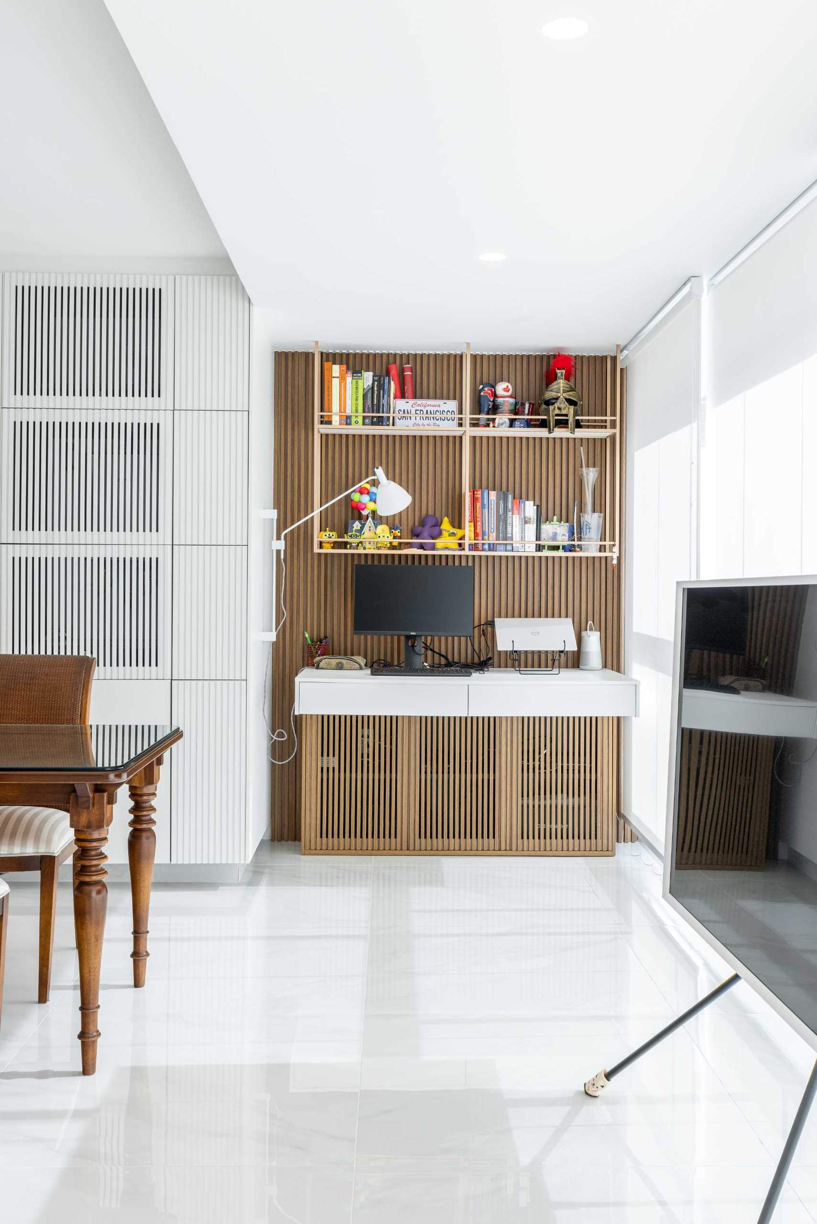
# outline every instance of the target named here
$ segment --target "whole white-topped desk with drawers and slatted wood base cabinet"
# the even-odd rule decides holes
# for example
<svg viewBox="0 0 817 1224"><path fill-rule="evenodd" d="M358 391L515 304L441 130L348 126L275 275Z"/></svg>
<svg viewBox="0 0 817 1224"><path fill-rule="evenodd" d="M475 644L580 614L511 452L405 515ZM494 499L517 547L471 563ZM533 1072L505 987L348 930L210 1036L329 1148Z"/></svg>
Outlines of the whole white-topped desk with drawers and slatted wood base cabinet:
<svg viewBox="0 0 817 1224"><path fill-rule="evenodd" d="M301 848L612 854L620 718L636 715L637 695L634 681L610 671L304 671Z"/></svg>

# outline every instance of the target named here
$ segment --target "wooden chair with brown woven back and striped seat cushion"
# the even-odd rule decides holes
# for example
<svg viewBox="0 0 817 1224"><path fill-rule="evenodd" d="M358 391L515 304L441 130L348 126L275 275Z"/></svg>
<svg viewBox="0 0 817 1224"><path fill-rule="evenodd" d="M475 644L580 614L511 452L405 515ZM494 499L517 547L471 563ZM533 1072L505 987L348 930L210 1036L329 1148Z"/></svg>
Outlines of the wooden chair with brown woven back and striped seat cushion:
<svg viewBox="0 0 817 1224"><path fill-rule="evenodd" d="M0 655L0 722L87 726L96 659ZM65 796L0 787L0 873L39 871L38 1002L48 1002L60 864L73 852ZM0 881L1 884L1 881Z"/></svg>

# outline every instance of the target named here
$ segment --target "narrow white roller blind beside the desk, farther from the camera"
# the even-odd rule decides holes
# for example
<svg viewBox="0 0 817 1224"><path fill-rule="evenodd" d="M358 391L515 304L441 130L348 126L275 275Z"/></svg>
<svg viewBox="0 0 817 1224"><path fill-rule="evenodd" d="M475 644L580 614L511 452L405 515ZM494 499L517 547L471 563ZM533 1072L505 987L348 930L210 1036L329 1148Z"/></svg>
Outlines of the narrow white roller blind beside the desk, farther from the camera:
<svg viewBox="0 0 817 1224"><path fill-rule="evenodd" d="M675 584L695 577L701 299L688 295L627 359L625 670L641 685L623 730L625 816L664 843Z"/></svg>

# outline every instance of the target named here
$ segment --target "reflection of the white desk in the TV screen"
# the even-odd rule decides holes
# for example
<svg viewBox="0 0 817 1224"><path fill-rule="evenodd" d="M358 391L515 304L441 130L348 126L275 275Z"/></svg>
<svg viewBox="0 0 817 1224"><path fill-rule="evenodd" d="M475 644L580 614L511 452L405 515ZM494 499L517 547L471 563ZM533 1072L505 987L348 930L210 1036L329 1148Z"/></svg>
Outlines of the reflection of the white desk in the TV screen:
<svg viewBox="0 0 817 1224"><path fill-rule="evenodd" d="M683 689L681 726L740 736L817 738L817 703L780 693L717 693Z"/></svg>

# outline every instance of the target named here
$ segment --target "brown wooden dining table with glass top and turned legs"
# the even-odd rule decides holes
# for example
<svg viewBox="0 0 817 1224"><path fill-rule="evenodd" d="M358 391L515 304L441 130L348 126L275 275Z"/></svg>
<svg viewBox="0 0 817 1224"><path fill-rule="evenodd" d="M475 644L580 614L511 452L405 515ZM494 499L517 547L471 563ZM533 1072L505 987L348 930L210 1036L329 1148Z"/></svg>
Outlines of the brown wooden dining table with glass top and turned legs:
<svg viewBox="0 0 817 1224"><path fill-rule="evenodd" d="M181 730L152 723L28 726L0 723L0 805L54 807L69 813L73 854L73 919L80 957L82 1073L97 1070L99 968L108 886L104 864L118 791L130 794L127 862L134 908L134 985L147 969L148 911L156 858L153 800L167 750Z"/></svg>

